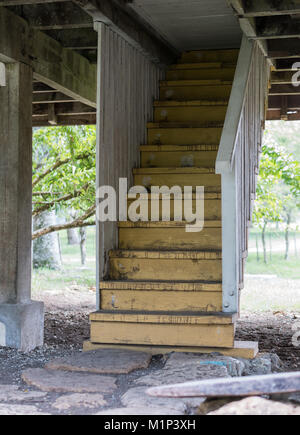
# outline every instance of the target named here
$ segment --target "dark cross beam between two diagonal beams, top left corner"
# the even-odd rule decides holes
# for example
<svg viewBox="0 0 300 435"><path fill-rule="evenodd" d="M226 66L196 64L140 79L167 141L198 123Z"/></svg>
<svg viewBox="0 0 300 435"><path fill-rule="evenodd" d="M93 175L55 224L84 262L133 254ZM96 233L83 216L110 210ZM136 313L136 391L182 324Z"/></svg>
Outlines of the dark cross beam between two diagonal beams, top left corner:
<svg viewBox="0 0 300 435"><path fill-rule="evenodd" d="M10 11L37 30L92 28L93 19L72 2L13 6Z"/></svg>

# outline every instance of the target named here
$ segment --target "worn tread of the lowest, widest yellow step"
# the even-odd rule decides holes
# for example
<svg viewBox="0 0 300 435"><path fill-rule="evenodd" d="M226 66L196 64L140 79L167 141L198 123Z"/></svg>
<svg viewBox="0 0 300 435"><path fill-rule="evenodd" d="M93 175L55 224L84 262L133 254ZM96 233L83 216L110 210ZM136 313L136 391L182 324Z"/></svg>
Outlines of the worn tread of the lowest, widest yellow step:
<svg viewBox="0 0 300 435"><path fill-rule="evenodd" d="M195 311L128 311L101 310L90 315L91 321L119 321L128 323L181 323L231 325L237 315L223 312Z"/></svg>

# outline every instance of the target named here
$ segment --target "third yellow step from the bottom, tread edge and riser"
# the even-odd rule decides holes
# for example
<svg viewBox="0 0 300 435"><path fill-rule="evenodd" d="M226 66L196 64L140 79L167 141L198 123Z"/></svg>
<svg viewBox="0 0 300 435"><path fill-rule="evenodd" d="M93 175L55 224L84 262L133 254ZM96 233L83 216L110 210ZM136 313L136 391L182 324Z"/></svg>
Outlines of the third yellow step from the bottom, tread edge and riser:
<svg viewBox="0 0 300 435"><path fill-rule="evenodd" d="M221 251L111 251L112 280L221 281Z"/></svg>

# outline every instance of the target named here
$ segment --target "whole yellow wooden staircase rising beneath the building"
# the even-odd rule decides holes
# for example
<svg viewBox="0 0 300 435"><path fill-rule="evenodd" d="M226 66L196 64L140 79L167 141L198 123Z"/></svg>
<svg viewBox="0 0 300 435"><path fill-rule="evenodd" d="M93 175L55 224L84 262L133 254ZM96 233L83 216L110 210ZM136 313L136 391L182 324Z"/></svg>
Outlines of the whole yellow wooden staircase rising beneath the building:
<svg viewBox="0 0 300 435"><path fill-rule="evenodd" d="M101 310L91 315L85 350L256 355L255 343L235 342L237 313L222 313L221 177L215 161L237 57L238 50L184 53L161 82L134 184L204 186L204 229L188 233L174 215L170 222L119 223L119 249L110 252Z"/></svg>

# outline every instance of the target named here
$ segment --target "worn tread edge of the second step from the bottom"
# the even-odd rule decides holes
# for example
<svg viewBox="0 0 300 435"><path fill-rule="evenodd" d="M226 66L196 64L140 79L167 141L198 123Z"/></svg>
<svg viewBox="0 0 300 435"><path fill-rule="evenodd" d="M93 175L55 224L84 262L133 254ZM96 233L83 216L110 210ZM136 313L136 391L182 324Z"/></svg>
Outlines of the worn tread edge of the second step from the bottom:
<svg viewBox="0 0 300 435"><path fill-rule="evenodd" d="M106 290L179 290L179 291L199 291L204 288L213 291L222 291L222 283L220 281L101 281L100 288Z"/></svg>

